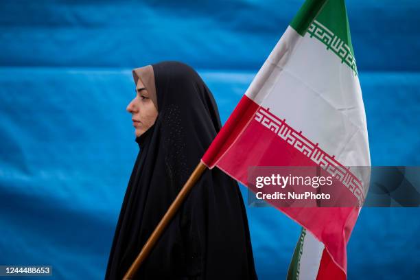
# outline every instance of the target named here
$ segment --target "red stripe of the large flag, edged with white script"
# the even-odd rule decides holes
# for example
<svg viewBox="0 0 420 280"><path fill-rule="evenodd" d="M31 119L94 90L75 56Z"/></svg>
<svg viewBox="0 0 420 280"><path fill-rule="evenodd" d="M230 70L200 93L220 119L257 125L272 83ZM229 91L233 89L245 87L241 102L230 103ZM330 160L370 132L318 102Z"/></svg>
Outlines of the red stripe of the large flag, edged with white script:
<svg viewBox="0 0 420 280"><path fill-rule="evenodd" d="M301 146L290 137L296 132L290 126L281 126L277 118L270 122L255 114L260 108L258 104L244 95L240 104L237 105L233 114L226 122L215 141L207 150L202 161L213 167L217 165L220 170L229 176L239 180L254 192L255 186L248 184L248 167L253 166L320 166L303 152ZM268 112L266 112L268 113ZM260 114L261 115L261 114ZM276 124L279 127L276 127ZM287 130L287 131L286 131ZM301 132L298 133L299 137ZM296 137L296 133L293 135ZM279 136L281 134L281 137ZM309 139L304 139L309 141ZM321 150L318 145L316 149ZM323 150L321 150L325 153ZM334 156L328 155L331 159ZM354 200L352 205L357 205L357 198L351 189L345 185L342 187L342 195L349 200ZM276 200L266 200L271 205L288 215L292 220L304 226L316 239L325 244L331 263L335 269L341 270L342 274L347 271L347 242L358 218L357 207L281 207L276 205ZM334 261L332 261L334 259ZM326 264L325 264L326 265Z"/></svg>

